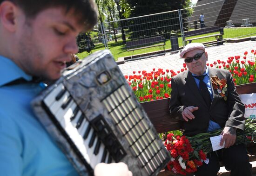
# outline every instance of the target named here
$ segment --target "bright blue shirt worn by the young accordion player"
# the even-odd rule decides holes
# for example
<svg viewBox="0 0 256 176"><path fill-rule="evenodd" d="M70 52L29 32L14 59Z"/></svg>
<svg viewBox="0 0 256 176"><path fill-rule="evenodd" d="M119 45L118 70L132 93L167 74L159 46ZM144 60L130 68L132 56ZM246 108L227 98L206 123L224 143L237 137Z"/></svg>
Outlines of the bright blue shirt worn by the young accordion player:
<svg viewBox="0 0 256 176"><path fill-rule="evenodd" d="M77 176L30 107L42 90L40 83L7 85L32 77L6 57L0 61L0 175Z"/></svg>

